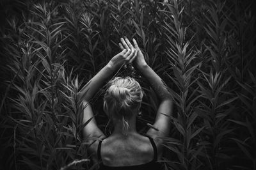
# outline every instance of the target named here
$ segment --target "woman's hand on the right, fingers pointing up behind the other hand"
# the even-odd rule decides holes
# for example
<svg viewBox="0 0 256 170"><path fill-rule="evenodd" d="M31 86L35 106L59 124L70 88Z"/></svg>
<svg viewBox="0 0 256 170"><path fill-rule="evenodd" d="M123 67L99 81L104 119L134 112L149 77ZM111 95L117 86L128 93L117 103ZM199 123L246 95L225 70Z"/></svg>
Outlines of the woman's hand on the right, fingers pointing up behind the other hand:
<svg viewBox="0 0 256 170"><path fill-rule="evenodd" d="M143 66L147 66L147 62L145 61L145 58L140 50L140 47L138 46L138 43L136 42L136 40L134 38L132 38L132 42L134 43L134 45L132 46L131 42L125 38L121 38L121 42L119 43L119 46L122 50L124 49L130 49L130 50L135 50L137 55L134 56L134 58L132 58L130 60L130 62L132 62L134 60L134 63L136 65L137 68L142 68Z"/></svg>

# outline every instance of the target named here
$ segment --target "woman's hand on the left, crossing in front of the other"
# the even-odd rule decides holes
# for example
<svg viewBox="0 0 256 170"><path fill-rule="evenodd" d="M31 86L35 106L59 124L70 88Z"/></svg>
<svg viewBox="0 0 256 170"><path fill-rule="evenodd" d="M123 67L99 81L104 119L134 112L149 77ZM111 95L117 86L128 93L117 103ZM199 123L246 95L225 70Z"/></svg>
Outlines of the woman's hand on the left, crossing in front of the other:
<svg viewBox="0 0 256 170"><path fill-rule="evenodd" d="M119 66L121 66L122 64L129 62L131 59L134 58L134 56L137 55L136 50L134 49L124 49L122 50L122 52L116 54L108 63L108 65L113 68L116 69Z"/></svg>

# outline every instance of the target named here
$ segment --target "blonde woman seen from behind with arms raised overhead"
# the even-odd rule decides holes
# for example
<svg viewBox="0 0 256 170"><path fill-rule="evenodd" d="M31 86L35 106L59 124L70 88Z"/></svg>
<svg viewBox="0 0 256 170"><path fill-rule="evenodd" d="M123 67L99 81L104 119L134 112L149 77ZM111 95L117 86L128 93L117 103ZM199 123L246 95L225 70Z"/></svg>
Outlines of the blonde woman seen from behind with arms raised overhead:
<svg viewBox="0 0 256 170"><path fill-rule="evenodd" d="M159 137L166 137L170 130L168 116L172 114L172 97L164 82L147 65L136 40L132 41L134 45L127 38L121 38L122 52L114 56L81 91L83 123L89 122L83 129L83 136L91 144L89 150L100 162L100 169L161 169L157 160L161 158L163 139ZM143 94L140 84L131 77L116 77L108 82L104 95L104 111L114 125L113 133L106 137L96 125L90 100L104 82L127 62L134 63L161 100L156 121L147 135L138 134L136 115L139 114Z"/></svg>

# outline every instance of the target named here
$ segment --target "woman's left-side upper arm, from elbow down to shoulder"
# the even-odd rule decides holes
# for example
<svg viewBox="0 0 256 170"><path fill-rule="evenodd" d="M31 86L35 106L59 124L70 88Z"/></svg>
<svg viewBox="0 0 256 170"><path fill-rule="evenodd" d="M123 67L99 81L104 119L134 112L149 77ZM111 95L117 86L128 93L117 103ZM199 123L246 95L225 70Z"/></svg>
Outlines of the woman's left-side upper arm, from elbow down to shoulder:
<svg viewBox="0 0 256 170"><path fill-rule="evenodd" d="M83 125L87 125L83 128L83 138L88 140L89 143L93 143L95 139L90 139L90 137L98 137L100 139L104 138L105 135L97 126L96 120L93 116L92 107L89 102L83 100Z"/></svg>

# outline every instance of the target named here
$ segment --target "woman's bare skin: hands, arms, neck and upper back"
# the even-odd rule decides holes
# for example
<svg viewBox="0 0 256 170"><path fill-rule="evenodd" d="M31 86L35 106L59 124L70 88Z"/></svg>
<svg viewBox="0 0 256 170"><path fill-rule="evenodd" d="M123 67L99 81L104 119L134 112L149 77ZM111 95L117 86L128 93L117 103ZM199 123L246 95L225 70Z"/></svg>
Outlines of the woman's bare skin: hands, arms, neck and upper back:
<svg viewBox="0 0 256 170"><path fill-rule="evenodd" d="M106 65L102 70L100 70L93 79L88 82L81 90L81 97L83 98L84 105L84 118L83 123L86 121L90 122L83 130L83 137L89 143L92 143L89 150L92 151L93 157L97 160L97 147L99 141L95 139L90 139L90 137L99 137L99 139L104 139L106 136L97 127L96 121L93 118L92 107L90 106L90 99L103 85L104 82L118 69L118 66L125 62L134 63L136 68L141 72L148 82L150 82L152 88L157 91L161 103L159 104L159 109L156 114L156 121L153 125L154 128L150 128L147 135L150 135L156 145L158 150L158 158L161 158L163 150L163 139L159 137L166 137L170 131L170 120L169 115L172 114L172 97L165 88L165 85L161 78L147 65L145 58L138 47L136 40L132 40L133 45L127 38L121 38L119 43L122 52L114 56L108 65ZM86 93L86 91L88 91ZM89 92L90 91L90 92ZM134 115L129 123L128 135L122 133L122 121L113 120L115 125L113 134L108 138L104 139L102 142L101 156L102 162L106 166L134 166L139 164L145 164L153 159L153 148L150 144L148 137L140 135L136 131L136 115L138 111L134 111ZM157 129L157 130L156 130Z"/></svg>

